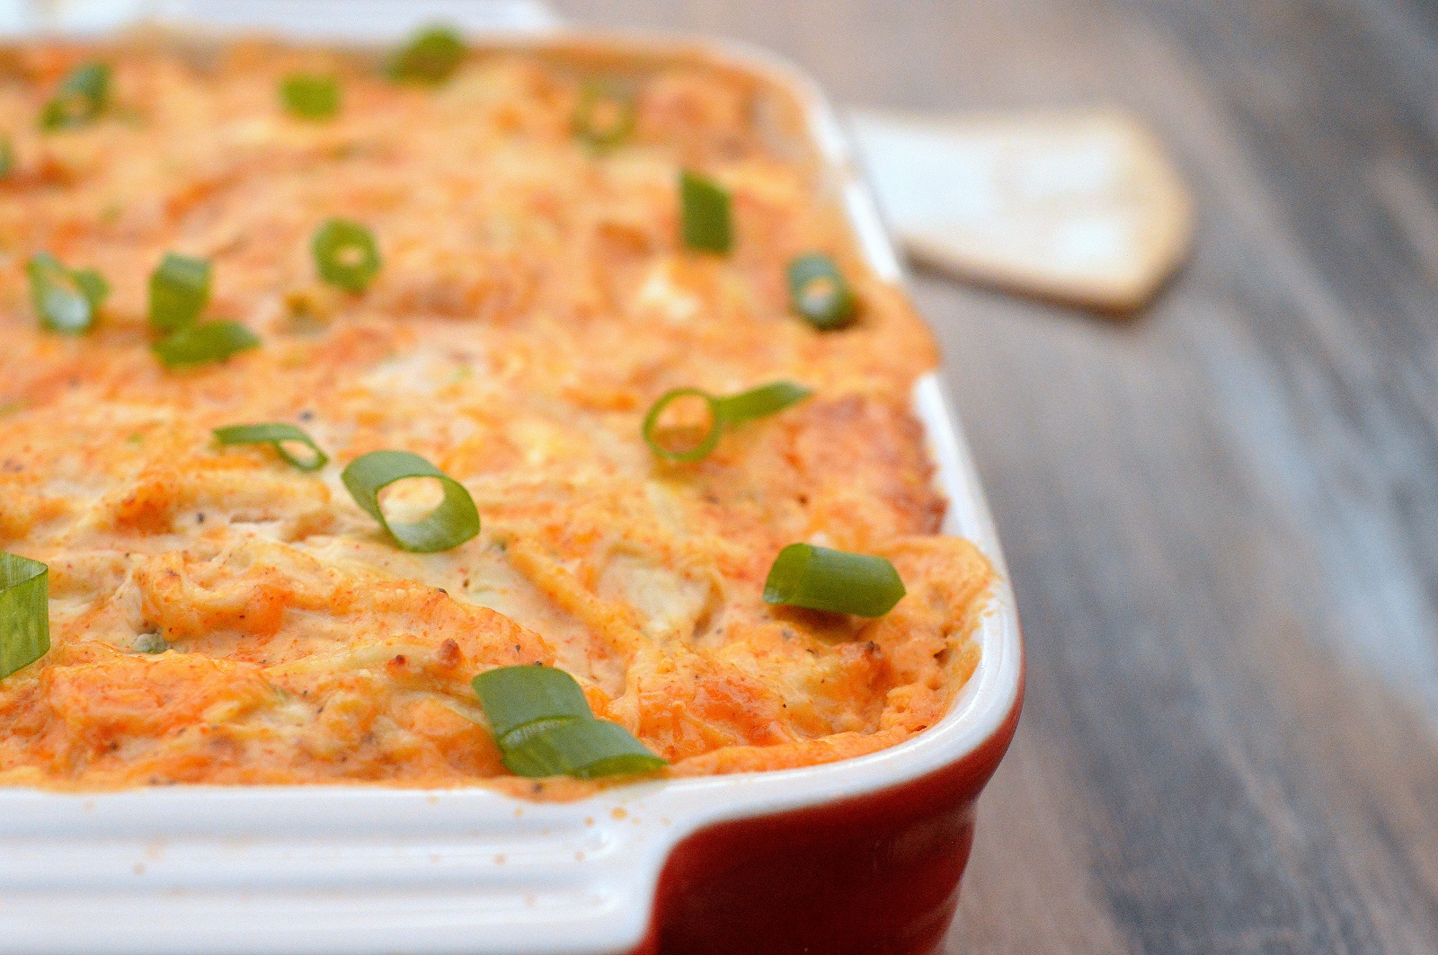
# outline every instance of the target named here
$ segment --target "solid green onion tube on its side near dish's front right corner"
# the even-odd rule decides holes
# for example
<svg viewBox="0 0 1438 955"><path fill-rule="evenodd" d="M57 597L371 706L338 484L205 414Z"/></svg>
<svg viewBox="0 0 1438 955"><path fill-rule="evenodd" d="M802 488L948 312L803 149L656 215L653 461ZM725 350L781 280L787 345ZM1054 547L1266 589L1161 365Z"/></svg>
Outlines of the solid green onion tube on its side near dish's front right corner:
<svg viewBox="0 0 1438 955"><path fill-rule="evenodd" d="M764 582L764 603L883 617L905 595L899 571L887 558L789 544L779 551Z"/></svg>

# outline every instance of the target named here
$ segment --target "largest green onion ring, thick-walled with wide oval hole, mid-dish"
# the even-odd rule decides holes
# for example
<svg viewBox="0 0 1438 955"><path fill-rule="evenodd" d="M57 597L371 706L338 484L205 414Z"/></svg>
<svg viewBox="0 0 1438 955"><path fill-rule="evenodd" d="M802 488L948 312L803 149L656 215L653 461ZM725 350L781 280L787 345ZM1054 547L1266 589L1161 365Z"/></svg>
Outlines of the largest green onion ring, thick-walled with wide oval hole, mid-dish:
<svg viewBox="0 0 1438 955"><path fill-rule="evenodd" d="M391 524L380 509L380 492L406 477L434 477L444 488L444 499L423 521ZM433 554L459 547L479 534L479 511L464 485L410 452L370 452L354 459L339 475L349 496L380 522L407 551Z"/></svg>

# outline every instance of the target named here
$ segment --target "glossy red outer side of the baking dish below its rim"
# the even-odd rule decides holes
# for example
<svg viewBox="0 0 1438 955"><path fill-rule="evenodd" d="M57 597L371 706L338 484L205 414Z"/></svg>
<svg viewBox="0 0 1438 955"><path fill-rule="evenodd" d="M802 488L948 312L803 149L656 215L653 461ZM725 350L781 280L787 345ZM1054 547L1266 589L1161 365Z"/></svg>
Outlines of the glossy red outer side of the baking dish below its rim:
<svg viewBox="0 0 1438 955"><path fill-rule="evenodd" d="M633 955L929 955L974 844L979 791L1022 706L979 746L879 792L722 823L670 853Z"/></svg>

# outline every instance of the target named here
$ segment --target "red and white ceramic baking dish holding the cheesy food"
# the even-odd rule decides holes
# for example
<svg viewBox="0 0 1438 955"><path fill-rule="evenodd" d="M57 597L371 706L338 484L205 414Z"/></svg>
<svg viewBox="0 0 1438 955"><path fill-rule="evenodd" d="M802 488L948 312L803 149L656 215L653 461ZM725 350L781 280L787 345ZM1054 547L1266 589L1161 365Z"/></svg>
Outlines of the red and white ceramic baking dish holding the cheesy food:
<svg viewBox="0 0 1438 955"><path fill-rule="evenodd" d="M316 36L313 10L269 12L267 26ZM696 49L559 32L480 42ZM902 282L812 85L762 53L699 49L807 104L808 132L871 268ZM1022 653L938 375L917 383L915 407L949 498L945 532L975 541L999 572L979 667L919 738L846 762L649 782L571 804L378 787L0 791L3 951L930 951L953 910L978 791L1014 731Z"/></svg>

